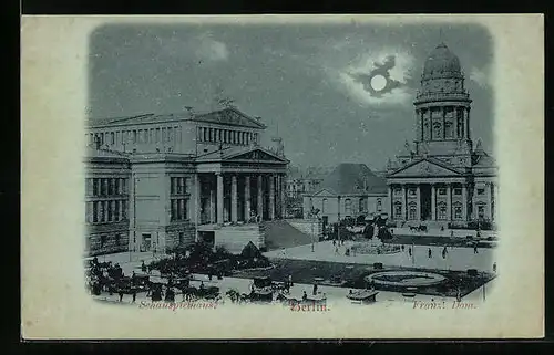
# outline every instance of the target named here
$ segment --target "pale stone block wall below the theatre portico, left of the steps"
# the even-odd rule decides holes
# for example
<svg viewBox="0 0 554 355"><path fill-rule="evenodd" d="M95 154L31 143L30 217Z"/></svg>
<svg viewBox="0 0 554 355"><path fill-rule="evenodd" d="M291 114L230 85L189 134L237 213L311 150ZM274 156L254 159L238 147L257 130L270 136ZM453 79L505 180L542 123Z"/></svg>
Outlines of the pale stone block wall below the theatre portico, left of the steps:
<svg viewBox="0 0 554 355"><path fill-rule="evenodd" d="M232 253L240 253L250 241L258 249L265 247L265 229L261 225L225 226L215 230L215 247L225 247Z"/></svg>

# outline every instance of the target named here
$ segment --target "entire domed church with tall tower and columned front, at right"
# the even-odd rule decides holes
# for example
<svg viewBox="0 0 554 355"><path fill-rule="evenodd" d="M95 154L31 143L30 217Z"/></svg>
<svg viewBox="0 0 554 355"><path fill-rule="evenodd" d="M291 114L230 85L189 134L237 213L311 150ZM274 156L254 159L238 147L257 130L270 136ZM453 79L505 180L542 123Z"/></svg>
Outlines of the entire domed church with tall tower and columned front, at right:
<svg viewBox="0 0 554 355"><path fill-rule="evenodd" d="M480 142L473 145L464 80L458 56L438 45L413 103L416 139L388 164L388 210L398 222L494 222L497 167Z"/></svg>

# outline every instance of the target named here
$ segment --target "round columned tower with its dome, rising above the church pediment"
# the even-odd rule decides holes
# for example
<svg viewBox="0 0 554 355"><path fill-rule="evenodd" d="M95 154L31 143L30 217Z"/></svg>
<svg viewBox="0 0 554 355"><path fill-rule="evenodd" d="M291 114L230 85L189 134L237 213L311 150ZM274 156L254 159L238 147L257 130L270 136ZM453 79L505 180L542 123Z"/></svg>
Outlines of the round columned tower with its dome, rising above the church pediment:
<svg viewBox="0 0 554 355"><path fill-rule="evenodd" d="M454 166L469 166L470 94L460 60L444 43L428 56L416 106L416 154L433 156Z"/></svg>

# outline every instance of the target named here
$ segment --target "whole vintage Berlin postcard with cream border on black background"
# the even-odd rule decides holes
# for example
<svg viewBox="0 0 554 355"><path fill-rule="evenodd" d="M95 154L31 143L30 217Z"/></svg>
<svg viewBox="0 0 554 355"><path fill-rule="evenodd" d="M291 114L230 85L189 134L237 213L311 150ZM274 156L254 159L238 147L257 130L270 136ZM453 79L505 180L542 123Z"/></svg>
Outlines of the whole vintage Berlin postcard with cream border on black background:
<svg viewBox="0 0 554 355"><path fill-rule="evenodd" d="M23 17L24 338L542 337L543 17Z"/></svg>

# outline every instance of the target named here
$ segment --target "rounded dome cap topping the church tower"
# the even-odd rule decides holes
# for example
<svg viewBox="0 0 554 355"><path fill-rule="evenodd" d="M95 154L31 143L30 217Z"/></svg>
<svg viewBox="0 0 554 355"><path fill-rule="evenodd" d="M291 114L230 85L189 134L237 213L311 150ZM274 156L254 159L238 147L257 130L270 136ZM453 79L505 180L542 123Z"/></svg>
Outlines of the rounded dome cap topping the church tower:
<svg viewBox="0 0 554 355"><path fill-rule="evenodd" d="M462 77L460 60L444 43L429 54L423 66L423 80L439 77Z"/></svg>

